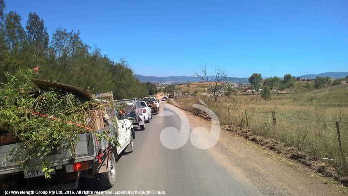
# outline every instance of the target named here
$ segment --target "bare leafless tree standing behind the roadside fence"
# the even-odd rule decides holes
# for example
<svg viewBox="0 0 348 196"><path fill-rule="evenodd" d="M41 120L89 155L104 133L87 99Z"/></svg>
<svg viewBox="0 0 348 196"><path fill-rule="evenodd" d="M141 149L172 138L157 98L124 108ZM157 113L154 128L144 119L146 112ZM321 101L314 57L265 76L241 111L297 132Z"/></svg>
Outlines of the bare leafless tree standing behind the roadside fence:
<svg viewBox="0 0 348 196"><path fill-rule="evenodd" d="M209 76L207 73L207 65L199 66L200 73L193 70L193 75L198 77L204 82L207 87L207 91L212 95L215 102L223 95L223 90L226 88L230 82L228 72L221 69L220 67L215 67L215 73L213 76Z"/></svg>

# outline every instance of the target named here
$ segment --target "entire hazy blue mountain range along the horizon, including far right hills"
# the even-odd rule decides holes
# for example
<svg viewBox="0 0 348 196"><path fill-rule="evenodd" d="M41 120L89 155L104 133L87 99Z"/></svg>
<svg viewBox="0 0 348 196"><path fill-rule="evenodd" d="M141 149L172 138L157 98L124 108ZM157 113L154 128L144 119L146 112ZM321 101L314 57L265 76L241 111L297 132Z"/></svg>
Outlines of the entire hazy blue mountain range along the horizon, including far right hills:
<svg viewBox="0 0 348 196"><path fill-rule="evenodd" d="M152 83L187 83L189 82L200 82L200 80L197 77L194 76L143 76L139 74L134 75L136 78L138 78L141 82L152 82ZM317 76L326 77L330 76L332 78L344 78L348 76L348 72L325 72L321 74L307 74L303 76L296 76L296 78L315 78ZM213 78L213 76L211 76ZM282 78L282 77L281 77ZM238 82L238 83L247 83L248 78L230 78L231 82Z"/></svg>

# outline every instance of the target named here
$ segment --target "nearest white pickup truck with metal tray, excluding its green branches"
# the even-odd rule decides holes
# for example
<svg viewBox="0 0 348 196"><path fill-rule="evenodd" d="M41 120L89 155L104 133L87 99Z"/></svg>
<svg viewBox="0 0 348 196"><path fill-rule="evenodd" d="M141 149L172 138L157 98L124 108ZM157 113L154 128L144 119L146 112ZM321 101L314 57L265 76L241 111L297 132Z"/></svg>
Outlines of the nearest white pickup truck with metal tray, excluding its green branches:
<svg viewBox="0 0 348 196"><path fill-rule="evenodd" d="M52 85L50 82L53 81L44 81L43 84L50 86ZM72 87L61 83L55 83L53 86L57 87L57 84L60 88ZM74 88L77 91L81 90ZM86 92L84 91L83 94L88 98L110 97L113 99L112 92L94 95ZM100 111L89 111L86 121L88 127L95 131L79 134L75 149L67 148L68 141L63 141L59 150L46 157L46 161L52 169L49 179L45 178L42 168L38 167L42 162L40 160L29 160L28 169L20 168L16 162L11 161L11 156L8 156L5 161L5 157L12 148L16 147L16 143L0 146L0 194L6 190L76 189L80 177L99 179L100 185L105 188L114 186L116 182L115 164L119 159L118 155L121 152L133 151L135 132L132 123L127 119L121 119L115 108L109 107L105 110L103 116ZM108 133L107 137L100 137L105 133ZM108 140L113 137L119 145ZM17 149L12 154L24 150Z"/></svg>

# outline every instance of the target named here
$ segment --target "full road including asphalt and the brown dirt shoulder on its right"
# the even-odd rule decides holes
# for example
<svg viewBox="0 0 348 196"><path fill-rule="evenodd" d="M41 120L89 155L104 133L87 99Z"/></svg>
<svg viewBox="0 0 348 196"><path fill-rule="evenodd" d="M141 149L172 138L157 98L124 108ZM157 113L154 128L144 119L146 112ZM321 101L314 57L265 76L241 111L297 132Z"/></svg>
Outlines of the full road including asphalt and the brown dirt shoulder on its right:
<svg viewBox="0 0 348 196"><path fill-rule="evenodd" d="M164 108L166 104L169 108ZM96 180L81 180L78 190L93 196L260 196L260 195L343 195L342 190L323 183L322 177L297 163L239 137L221 132L217 145L201 150L187 143L168 149L160 139L166 127L180 130L182 115L190 130L209 129L209 123L161 102L160 115L153 115L146 129L136 130L135 150L122 154L116 164L117 182L102 189ZM165 111L175 115L163 116ZM163 113L162 113L163 114ZM173 141L175 138L173 138ZM319 180L318 180L319 179ZM126 194L128 192L128 194ZM122 194L123 193L123 194Z"/></svg>

